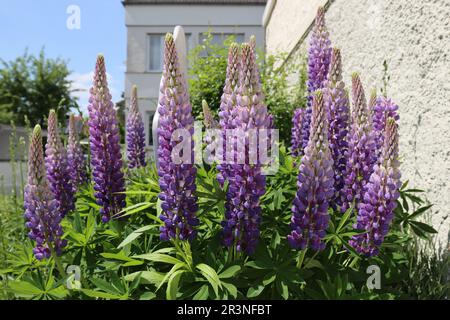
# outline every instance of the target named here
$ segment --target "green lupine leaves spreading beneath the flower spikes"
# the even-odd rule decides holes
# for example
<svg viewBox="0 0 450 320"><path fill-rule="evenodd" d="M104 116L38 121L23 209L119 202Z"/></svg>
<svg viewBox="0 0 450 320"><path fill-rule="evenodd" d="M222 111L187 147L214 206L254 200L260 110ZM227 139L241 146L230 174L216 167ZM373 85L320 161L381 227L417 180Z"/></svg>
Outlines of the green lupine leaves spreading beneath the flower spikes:
<svg viewBox="0 0 450 320"><path fill-rule="evenodd" d="M224 190L215 169L198 168L198 237L191 243L161 242L158 176L147 168L127 173L126 217L100 222L93 189L77 194L76 210L63 220L69 245L61 256L79 266L81 279L63 275L54 261L37 261L19 212L0 213L15 226L2 232L1 298L8 299L431 299L447 294L448 258L418 249L435 230L422 221L429 205L421 190L405 184L391 231L377 257L365 259L348 245L355 234L352 210L330 212L323 252L292 250L286 241L295 195L296 169L282 146L280 170L269 176L262 198L261 241L250 257L231 259L221 244ZM4 207L2 205L2 207ZM420 220L420 221L419 221ZM9 221L9 222L8 222ZM9 226L9 224L6 224ZM9 227L8 227L9 228ZM14 230L14 229L11 229ZM420 238L419 238L420 237ZM424 240L428 243L431 240ZM381 289L369 290L366 269L381 269ZM300 267L299 267L300 266ZM67 288L67 283L72 284Z"/></svg>

